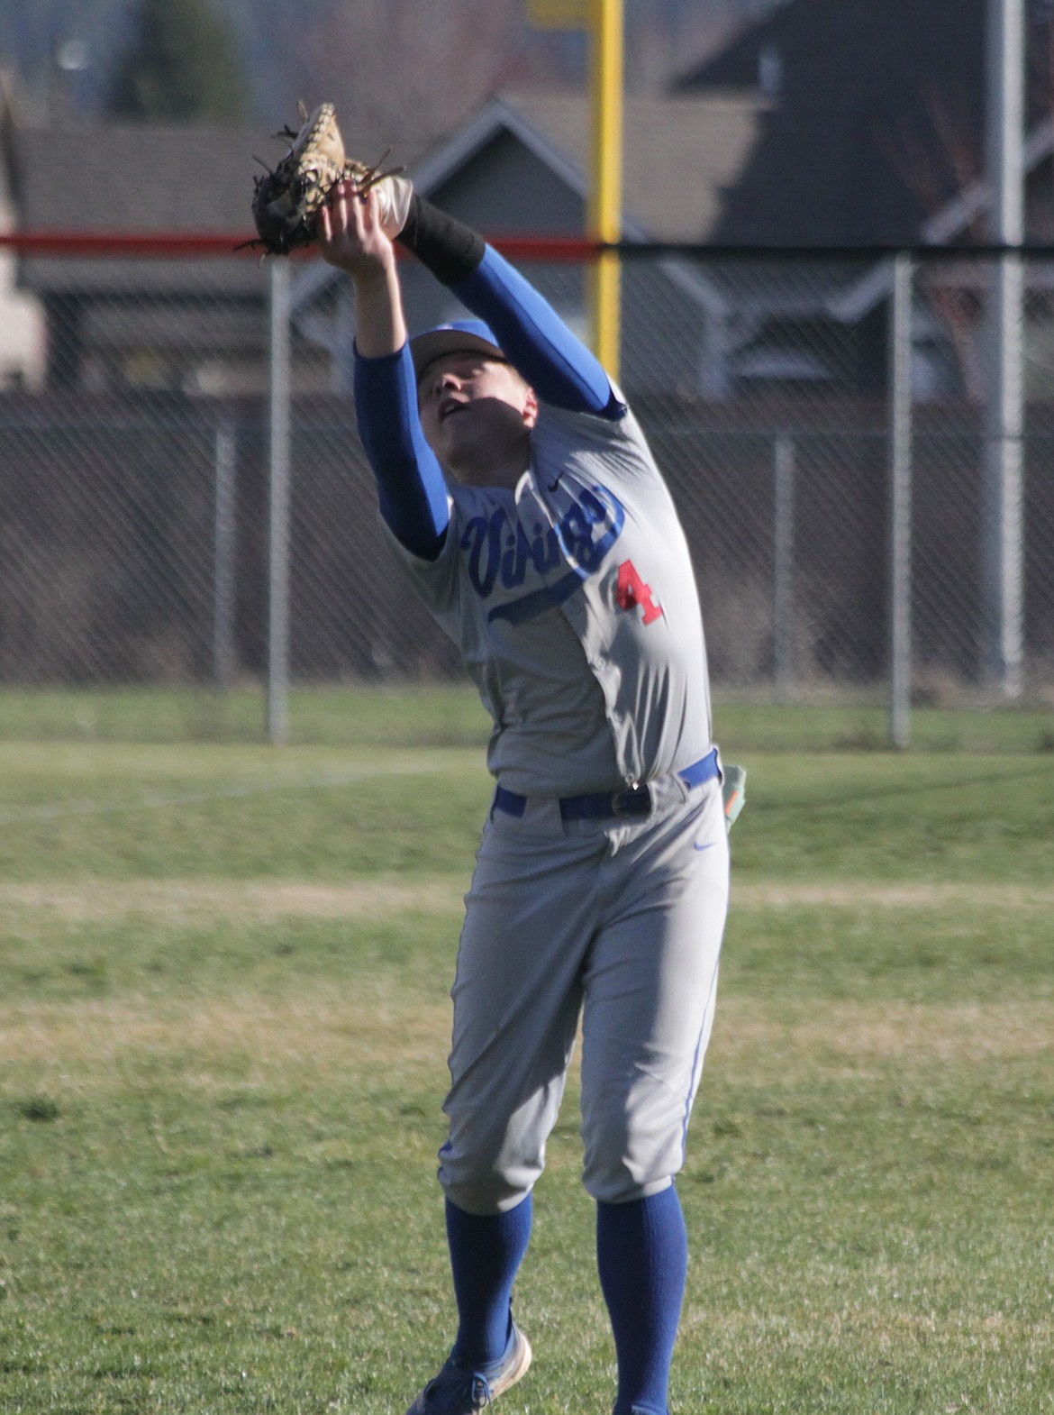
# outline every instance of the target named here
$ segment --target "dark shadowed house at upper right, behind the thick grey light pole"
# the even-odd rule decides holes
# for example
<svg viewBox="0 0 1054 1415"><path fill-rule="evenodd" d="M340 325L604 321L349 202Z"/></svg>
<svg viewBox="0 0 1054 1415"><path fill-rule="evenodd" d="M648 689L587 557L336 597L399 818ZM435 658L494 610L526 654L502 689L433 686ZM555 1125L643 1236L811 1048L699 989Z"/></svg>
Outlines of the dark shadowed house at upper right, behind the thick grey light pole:
<svg viewBox="0 0 1054 1415"><path fill-rule="evenodd" d="M758 140L724 192L712 239L746 246L969 246L986 239L985 50L988 0L787 0L744 24L675 82L678 95L761 96ZM1027 0L1027 239L1054 236L1051 6ZM1050 272L1029 273L1027 391L1054 398ZM976 262L927 269L917 308L921 399L982 395L985 273ZM723 293L754 330L740 374L784 372L832 385L832 361L857 386L884 378L888 273L799 265L795 287L758 303ZM775 291L774 291L775 294ZM812 354L799 334L812 328ZM838 382L838 379L835 379Z"/></svg>

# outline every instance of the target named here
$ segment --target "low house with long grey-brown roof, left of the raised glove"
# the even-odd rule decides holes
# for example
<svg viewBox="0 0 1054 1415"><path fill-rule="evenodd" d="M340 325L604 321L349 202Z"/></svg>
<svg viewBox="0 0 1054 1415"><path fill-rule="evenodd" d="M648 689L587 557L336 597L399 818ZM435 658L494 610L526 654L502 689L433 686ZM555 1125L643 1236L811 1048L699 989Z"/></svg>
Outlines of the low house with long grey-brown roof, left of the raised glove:
<svg viewBox="0 0 1054 1415"><path fill-rule="evenodd" d="M255 153L282 149L242 129L85 122L18 126L11 153L23 231L233 238L252 229ZM42 311L48 388L266 386L267 280L253 259L30 255L18 287Z"/></svg>

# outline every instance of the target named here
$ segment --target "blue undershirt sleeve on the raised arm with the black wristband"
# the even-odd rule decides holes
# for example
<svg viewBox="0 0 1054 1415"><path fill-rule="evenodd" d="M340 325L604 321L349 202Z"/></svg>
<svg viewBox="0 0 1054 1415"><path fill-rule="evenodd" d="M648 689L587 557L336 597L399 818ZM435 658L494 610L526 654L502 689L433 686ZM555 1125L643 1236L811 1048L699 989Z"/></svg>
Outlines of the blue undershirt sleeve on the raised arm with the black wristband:
<svg viewBox="0 0 1054 1415"><path fill-rule="evenodd" d="M494 246L487 246L477 269L453 293L490 324L512 366L543 402L613 422L622 417L625 405L603 366Z"/></svg>

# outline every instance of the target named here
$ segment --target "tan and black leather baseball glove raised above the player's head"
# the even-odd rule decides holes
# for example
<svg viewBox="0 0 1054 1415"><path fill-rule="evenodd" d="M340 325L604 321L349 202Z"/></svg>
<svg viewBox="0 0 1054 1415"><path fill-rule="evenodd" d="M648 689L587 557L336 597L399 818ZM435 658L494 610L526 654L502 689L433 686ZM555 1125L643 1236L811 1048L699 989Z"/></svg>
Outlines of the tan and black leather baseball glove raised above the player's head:
<svg viewBox="0 0 1054 1415"><path fill-rule="evenodd" d="M256 158L266 175L255 178L252 198L257 239L248 246L263 246L265 255L287 256L290 250L310 246L315 239L315 218L335 183L354 178L358 191L381 188L381 216L385 231L395 236L403 228L410 207L413 187L395 167L381 171L381 163L368 167L344 153L344 139L337 126L332 103L320 103L308 116L300 105L301 127L283 127L276 137L291 140L289 153L277 167L270 168ZM388 156L388 154L385 154Z"/></svg>

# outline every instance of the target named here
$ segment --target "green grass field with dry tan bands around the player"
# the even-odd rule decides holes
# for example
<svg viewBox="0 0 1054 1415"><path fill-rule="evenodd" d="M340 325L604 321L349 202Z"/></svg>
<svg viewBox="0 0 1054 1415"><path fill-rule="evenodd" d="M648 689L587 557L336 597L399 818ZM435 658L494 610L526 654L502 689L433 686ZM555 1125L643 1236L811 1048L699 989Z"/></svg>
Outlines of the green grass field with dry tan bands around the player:
<svg viewBox="0 0 1054 1415"><path fill-rule="evenodd" d="M269 749L188 702L4 699L0 1409L400 1415L453 1337L484 724L318 693ZM717 710L750 784L673 1409L1054 1412L1050 715L896 756L832 712ZM536 1214L502 1409L606 1415L573 1085Z"/></svg>

